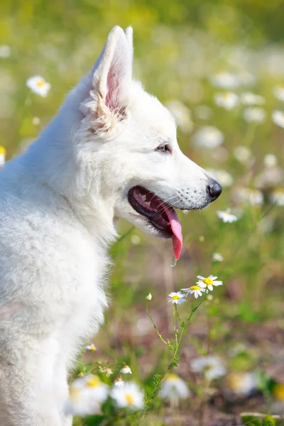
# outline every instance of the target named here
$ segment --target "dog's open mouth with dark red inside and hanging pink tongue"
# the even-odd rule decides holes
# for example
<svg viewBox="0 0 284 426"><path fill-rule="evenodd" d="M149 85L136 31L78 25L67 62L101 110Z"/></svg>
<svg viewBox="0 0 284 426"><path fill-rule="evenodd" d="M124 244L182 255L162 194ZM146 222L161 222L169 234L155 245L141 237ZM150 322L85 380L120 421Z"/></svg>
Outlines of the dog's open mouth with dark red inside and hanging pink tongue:
<svg viewBox="0 0 284 426"><path fill-rule="evenodd" d="M160 235L173 240L173 251L178 260L182 251L182 226L173 207L141 186L131 188L128 198L133 209L143 214Z"/></svg>

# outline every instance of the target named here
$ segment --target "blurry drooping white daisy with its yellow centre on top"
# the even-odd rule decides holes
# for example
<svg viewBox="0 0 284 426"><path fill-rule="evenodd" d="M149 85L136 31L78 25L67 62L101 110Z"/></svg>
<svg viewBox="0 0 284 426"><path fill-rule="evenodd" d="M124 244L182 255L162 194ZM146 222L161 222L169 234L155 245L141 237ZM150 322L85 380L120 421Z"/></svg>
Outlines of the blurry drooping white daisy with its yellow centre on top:
<svg viewBox="0 0 284 426"><path fill-rule="evenodd" d="M176 405L179 399L190 397L190 390L182 378L177 376L177 374L170 373L163 382L159 396L160 398L170 400L173 405Z"/></svg>

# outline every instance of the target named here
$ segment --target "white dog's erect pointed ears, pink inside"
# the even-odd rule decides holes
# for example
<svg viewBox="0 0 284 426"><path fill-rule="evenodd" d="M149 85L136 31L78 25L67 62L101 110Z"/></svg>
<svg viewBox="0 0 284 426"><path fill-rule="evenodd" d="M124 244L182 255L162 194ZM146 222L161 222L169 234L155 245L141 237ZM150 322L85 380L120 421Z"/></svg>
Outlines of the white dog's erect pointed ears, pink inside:
<svg viewBox="0 0 284 426"><path fill-rule="evenodd" d="M94 64L90 94L97 104L97 118L111 112L122 119L126 114L132 77L131 32L132 28L124 33L119 26L114 27Z"/></svg>

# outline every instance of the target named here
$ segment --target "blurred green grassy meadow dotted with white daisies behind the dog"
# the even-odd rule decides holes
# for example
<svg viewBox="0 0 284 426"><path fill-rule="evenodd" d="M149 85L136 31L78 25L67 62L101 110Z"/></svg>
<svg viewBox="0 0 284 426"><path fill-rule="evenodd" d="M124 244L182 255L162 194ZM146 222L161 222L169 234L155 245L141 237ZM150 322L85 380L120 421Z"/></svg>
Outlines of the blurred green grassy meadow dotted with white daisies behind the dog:
<svg viewBox="0 0 284 426"><path fill-rule="evenodd" d="M92 371L99 386L135 382L146 405L133 413L108 398L74 425L284 424L283 16L281 0L2 2L0 146L7 159L36 138L89 71L111 27L131 24L135 76L176 116L184 153L224 187L203 211L180 214L185 244L175 268L169 241L121 223L110 308L97 349L84 351L73 378ZM27 87L33 75L50 83L46 97ZM234 222L222 219L229 212L218 215L226 209ZM187 329L175 317L175 333L168 295L209 274L223 285L196 300L203 301ZM166 344L146 313L148 293ZM182 321L194 300L188 295L178 305ZM120 373L124 363L131 375Z"/></svg>

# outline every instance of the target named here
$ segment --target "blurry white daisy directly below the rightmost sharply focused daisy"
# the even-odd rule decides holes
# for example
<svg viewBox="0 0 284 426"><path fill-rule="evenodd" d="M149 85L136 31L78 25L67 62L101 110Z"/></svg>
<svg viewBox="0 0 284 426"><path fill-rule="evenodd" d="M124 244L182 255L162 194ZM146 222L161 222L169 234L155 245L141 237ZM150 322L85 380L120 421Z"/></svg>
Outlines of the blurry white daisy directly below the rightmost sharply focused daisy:
<svg viewBox="0 0 284 426"><path fill-rule="evenodd" d="M208 380L214 380L226 374L226 367L219 356L200 356L193 359L190 366L195 373L204 373Z"/></svg>

